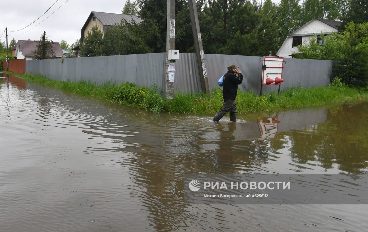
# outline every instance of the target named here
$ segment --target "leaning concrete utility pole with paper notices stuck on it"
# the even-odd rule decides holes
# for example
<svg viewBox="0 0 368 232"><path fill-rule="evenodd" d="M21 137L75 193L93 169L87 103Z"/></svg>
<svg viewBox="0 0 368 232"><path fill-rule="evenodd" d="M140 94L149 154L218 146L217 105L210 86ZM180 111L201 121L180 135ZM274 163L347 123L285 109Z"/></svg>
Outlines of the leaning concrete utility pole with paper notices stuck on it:
<svg viewBox="0 0 368 232"><path fill-rule="evenodd" d="M195 0L188 0L188 5L189 5L190 21L192 23L195 53L197 54L199 79L201 81L202 91L206 92L207 95L209 95L206 60L202 45L201 29L199 28L197 4Z"/></svg>

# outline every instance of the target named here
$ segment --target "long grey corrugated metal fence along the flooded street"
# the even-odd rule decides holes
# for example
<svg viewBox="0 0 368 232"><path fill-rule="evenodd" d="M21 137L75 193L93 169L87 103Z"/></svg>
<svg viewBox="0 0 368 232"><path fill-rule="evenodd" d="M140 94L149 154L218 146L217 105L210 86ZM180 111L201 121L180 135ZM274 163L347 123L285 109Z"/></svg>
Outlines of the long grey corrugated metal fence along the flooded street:
<svg viewBox="0 0 368 232"><path fill-rule="evenodd" d="M205 54L210 89L218 86L217 81L226 71L227 65L240 66L244 81L241 90L259 93L261 88L262 63L255 56ZM304 87L327 85L332 76L333 61L285 59L281 89L301 85ZM139 86L165 86L164 64L166 53L134 54L102 57L78 57L52 60L26 61L26 72L40 74L59 81L112 81L134 82ZM196 92L201 90L196 56L181 53L175 63L175 91ZM264 92L277 91L277 86L265 86Z"/></svg>

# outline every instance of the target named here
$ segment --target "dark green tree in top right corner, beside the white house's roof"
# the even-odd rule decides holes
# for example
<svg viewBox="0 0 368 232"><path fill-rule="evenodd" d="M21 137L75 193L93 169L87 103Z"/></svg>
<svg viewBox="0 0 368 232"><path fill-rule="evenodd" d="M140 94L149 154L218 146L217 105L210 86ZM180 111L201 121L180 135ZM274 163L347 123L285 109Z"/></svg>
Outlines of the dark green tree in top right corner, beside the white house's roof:
<svg viewBox="0 0 368 232"><path fill-rule="evenodd" d="M340 31L344 31L349 22L355 23L368 22L368 1L367 0L350 0L347 13L341 19L342 24L339 26Z"/></svg>

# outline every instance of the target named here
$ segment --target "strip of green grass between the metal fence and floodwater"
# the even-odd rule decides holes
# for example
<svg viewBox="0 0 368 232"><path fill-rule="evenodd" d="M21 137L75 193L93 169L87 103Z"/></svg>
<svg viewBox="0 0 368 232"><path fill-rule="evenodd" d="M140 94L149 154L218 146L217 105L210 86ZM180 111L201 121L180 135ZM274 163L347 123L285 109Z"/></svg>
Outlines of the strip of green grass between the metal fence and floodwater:
<svg viewBox="0 0 368 232"><path fill-rule="evenodd" d="M84 96L112 101L142 108L154 113L213 114L222 107L222 89L215 88L210 96L204 93L177 92L172 100L161 97L157 88L138 87L134 83L116 85L106 82L96 85L91 82L55 81L41 75L18 75L28 81L58 88ZM339 80L332 85L314 88L288 88L280 94L270 93L255 96L253 92L238 92L238 113L291 110L318 106L327 103L358 103L368 100L368 91L344 86Z"/></svg>

